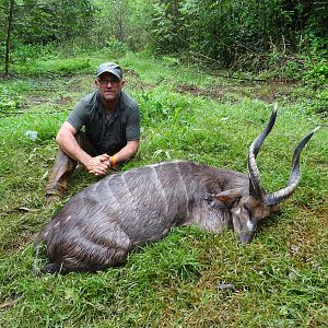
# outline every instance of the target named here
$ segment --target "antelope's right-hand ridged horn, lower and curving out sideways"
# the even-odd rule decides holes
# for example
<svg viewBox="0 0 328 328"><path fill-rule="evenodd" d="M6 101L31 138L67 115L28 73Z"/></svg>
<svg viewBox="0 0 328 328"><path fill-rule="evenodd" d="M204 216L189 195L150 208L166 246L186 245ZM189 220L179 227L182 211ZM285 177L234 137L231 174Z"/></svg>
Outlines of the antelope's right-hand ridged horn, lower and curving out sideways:
<svg viewBox="0 0 328 328"><path fill-rule="evenodd" d="M319 129L319 127L315 128L312 132L306 134L298 145L295 148L293 161L292 161L292 172L288 183L288 186L279 191L269 194L266 196L266 203L273 206L282 202L284 199L289 198L296 189L298 181L301 179L301 171L300 171L300 154L304 149L305 144L312 138L312 136Z"/></svg>

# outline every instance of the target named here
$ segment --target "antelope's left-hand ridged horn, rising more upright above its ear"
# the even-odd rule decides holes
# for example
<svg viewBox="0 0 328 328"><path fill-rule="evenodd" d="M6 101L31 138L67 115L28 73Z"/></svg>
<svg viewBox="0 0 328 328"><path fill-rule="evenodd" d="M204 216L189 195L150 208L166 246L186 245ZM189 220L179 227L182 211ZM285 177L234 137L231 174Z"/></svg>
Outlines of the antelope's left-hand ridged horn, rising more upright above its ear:
<svg viewBox="0 0 328 328"><path fill-rule="evenodd" d="M256 164L256 157L257 157L257 154L258 154L265 139L270 133L270 131L271 131L271 129L272 129L272 127L276 122L277 109L278 109L278 105L276 103L267 127L253 141L253 143L249 148L249 153L248 153L249 195L257 198L257 199L262 199L265 197L266 192L265 192L265 189L261 185L259 169L258 169L258 166Z"/></svg>

